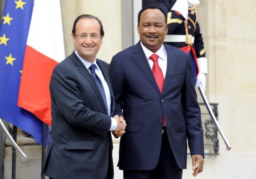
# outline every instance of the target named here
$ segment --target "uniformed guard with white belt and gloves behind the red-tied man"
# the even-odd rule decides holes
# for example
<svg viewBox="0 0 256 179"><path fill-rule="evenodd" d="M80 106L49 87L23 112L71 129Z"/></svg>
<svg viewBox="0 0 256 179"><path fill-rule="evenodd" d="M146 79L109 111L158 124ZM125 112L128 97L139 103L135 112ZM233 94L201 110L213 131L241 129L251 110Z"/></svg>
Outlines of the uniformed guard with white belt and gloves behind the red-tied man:
<svg viewBox="0 0 256 179"><path fill-rule="evenodd" d="M195 87L200 83L205 90L207 59L195 8L199 3L199 0L142 0L142 8L157 5L167 13L168 32L164 41L191 55Z"/></svg>

